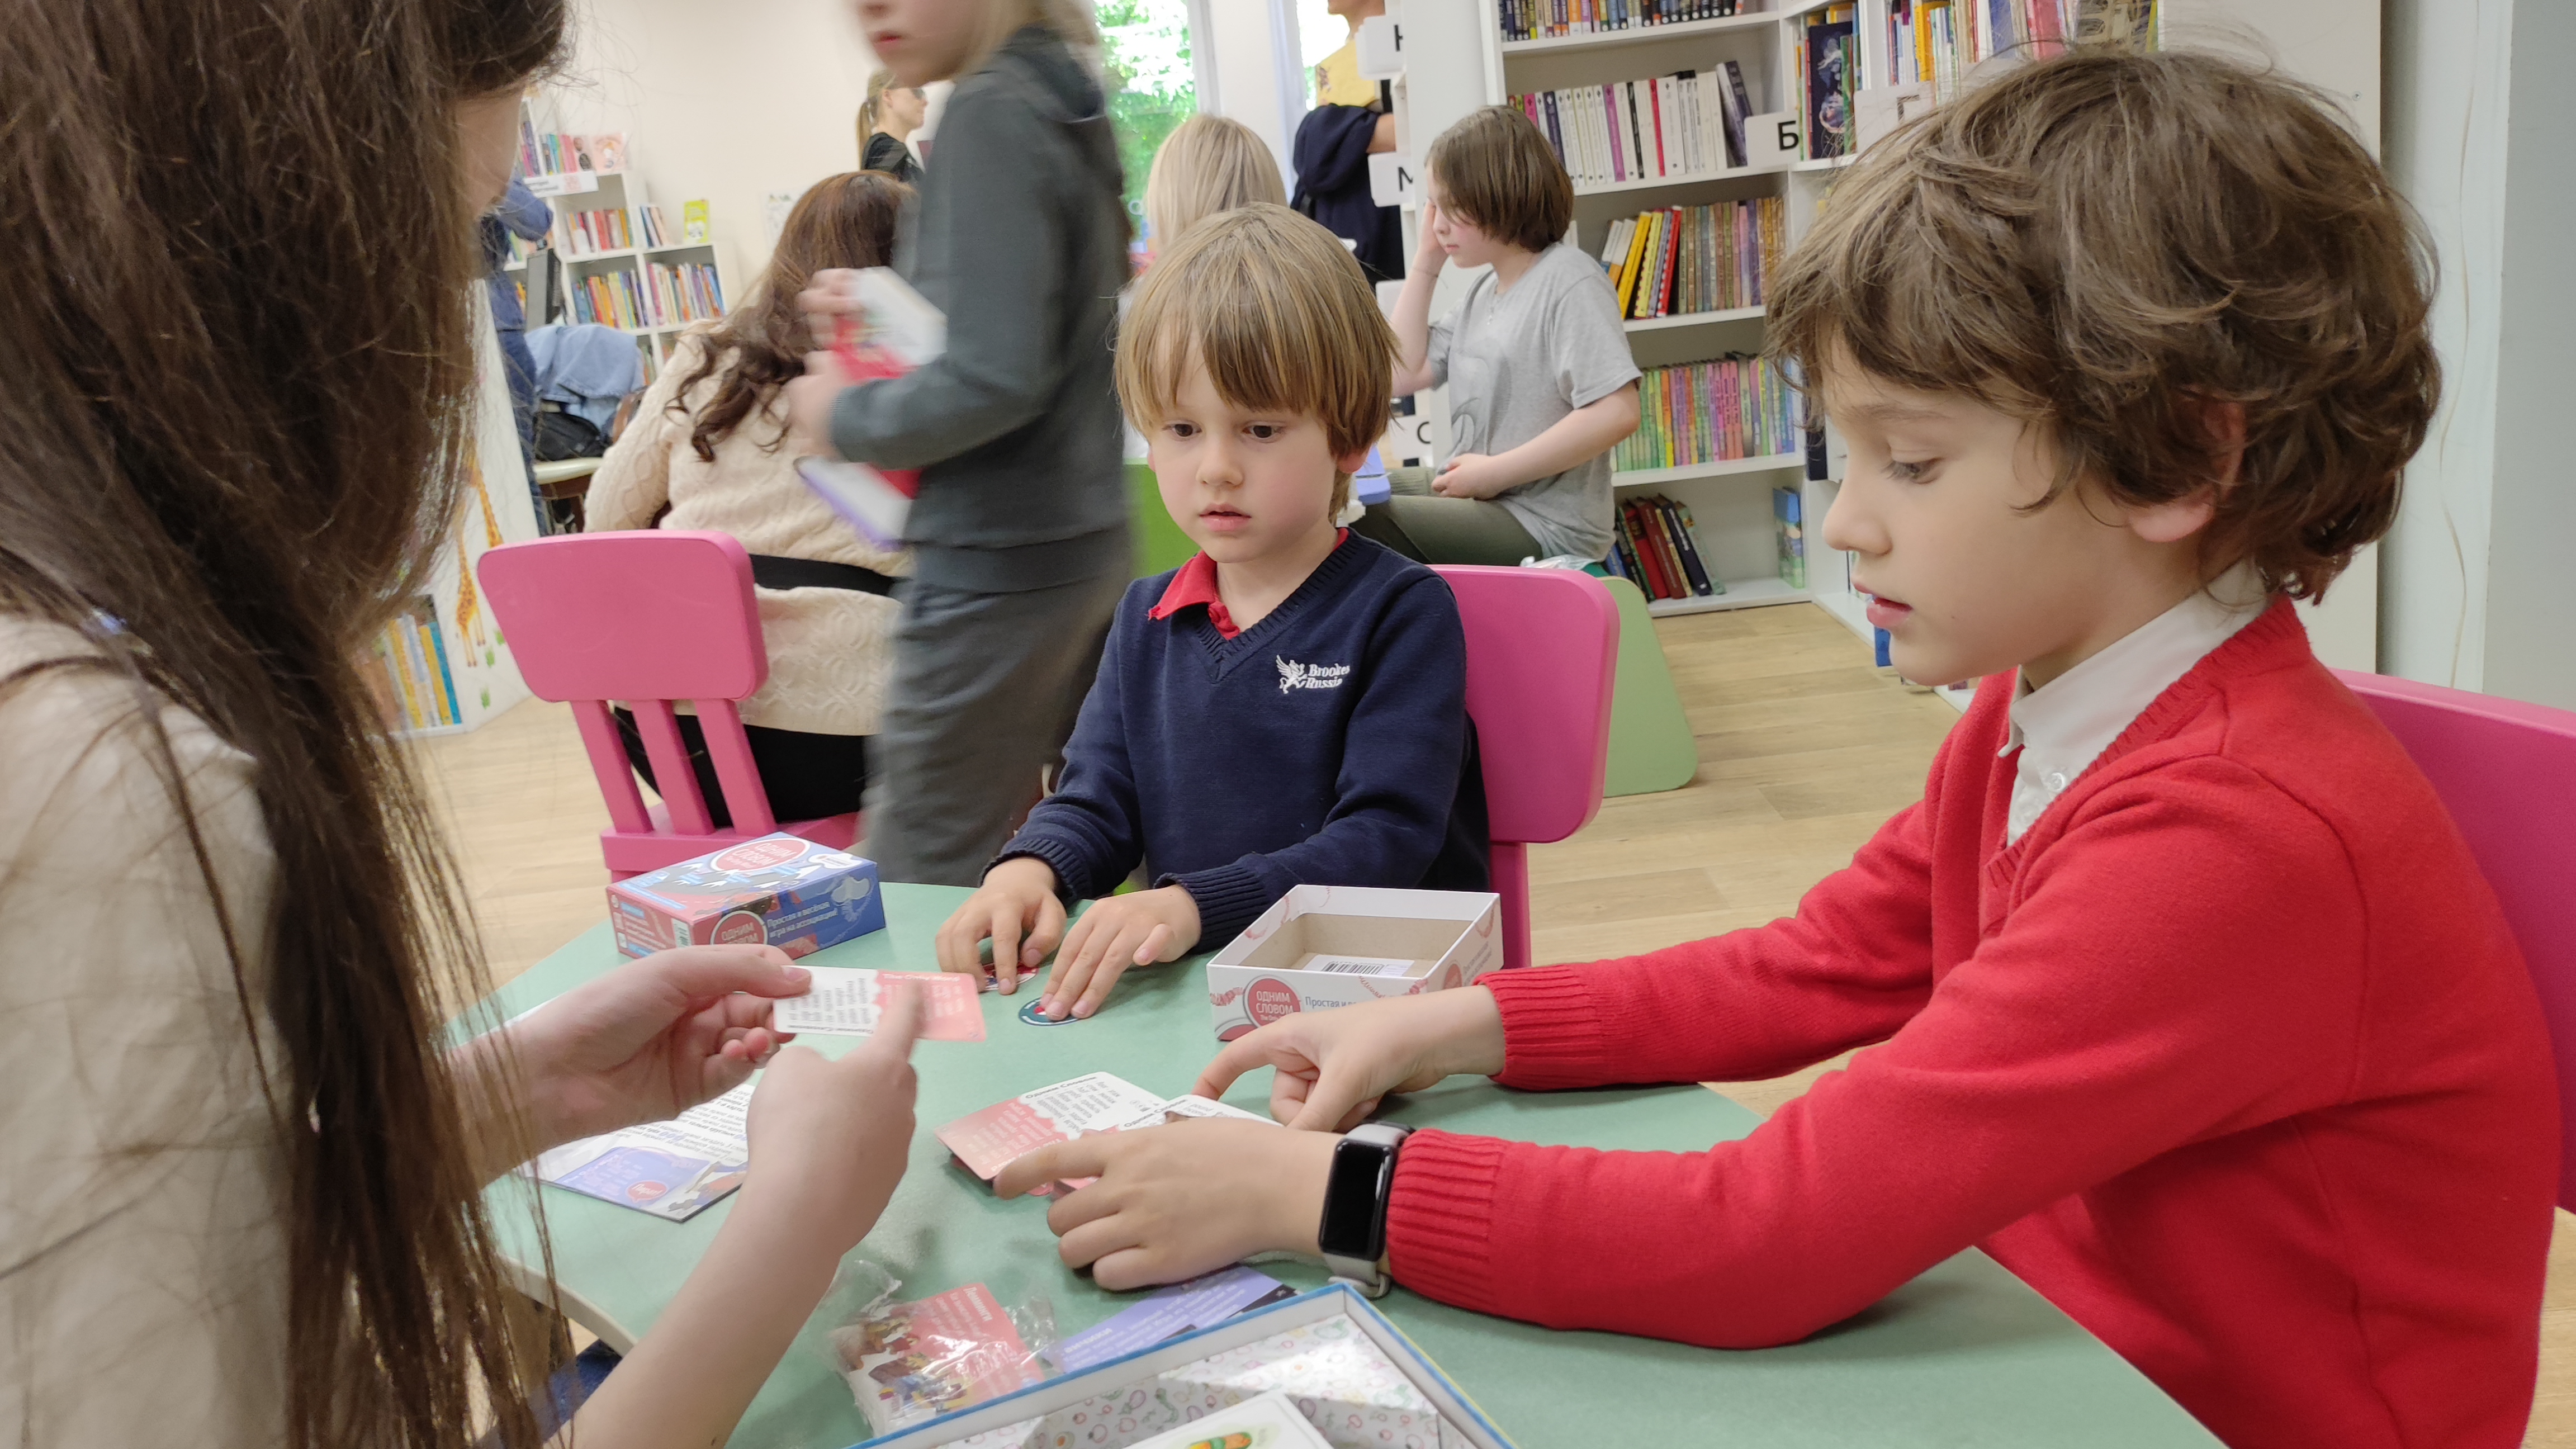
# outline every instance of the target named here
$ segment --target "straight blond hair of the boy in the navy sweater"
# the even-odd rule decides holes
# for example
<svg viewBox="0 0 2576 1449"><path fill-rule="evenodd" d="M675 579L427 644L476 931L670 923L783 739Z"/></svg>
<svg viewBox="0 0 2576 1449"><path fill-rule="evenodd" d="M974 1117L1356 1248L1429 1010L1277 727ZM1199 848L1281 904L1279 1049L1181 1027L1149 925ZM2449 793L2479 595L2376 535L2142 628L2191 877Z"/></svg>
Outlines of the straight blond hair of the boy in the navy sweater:
<svg viewBox="0 0 2576 1449"><path fill-rule="evenodd" d="M1396 333L1340 237L1257 201L1190 227L1136 284L1118 327L1118 402L1139 433L1172 415L1190 366L1244 410L1324 425L1332 454L1386 433ZM1332 474L1332 511L1350 474Z"/></svg>

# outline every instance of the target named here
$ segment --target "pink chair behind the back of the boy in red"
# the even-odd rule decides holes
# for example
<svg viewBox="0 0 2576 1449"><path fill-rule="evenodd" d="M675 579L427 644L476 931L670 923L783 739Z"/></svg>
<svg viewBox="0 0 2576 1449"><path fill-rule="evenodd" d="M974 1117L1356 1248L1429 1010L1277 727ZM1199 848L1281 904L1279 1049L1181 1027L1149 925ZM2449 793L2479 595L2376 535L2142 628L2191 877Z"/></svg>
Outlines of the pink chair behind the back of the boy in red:
<svg viewBox="0 0 2576 1449"><path fill-rule="evenodd" d="M2504 902L2558 1052L2558 1207L2576 1209L2576 714L2334 670L2406 745Z"/></svg>

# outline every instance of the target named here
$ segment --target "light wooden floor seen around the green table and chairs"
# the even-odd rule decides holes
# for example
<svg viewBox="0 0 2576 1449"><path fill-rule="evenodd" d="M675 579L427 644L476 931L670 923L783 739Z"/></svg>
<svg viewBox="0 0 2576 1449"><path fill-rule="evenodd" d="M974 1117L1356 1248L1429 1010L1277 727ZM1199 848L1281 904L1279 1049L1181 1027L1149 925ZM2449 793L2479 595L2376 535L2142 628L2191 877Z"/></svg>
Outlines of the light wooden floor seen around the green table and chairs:
<svg viewBox="0 0 2576 1449"><path fill-rule="evenodd" d="M1571 841L1530 851L1540 962L1587 962L1759 926L1896 810L1958 719L1870 668L1821 608L1795 603L1656 621L1700 740L1700 776L1610 799ZM608 825L564 706L528 701L417 750L446 802L492 972L507 980L603 915ZM1716 1083L1772 1111L1832 1070ZM2576 1232L2558 1214L2527 1446L2576 1449Z"/></svg>

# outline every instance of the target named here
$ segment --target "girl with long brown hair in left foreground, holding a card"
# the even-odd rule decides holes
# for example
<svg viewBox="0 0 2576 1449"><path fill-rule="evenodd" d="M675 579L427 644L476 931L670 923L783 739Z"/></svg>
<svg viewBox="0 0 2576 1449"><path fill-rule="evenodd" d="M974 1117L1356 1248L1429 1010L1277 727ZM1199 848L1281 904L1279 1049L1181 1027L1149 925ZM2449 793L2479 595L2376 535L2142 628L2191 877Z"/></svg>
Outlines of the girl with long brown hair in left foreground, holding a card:
<svg viewBox="0 0 2576 1449"><path fill-rule="evenodd" d="M0 46L0 1415L536 1444L482 1186L770 1060L770 949L487 980L353 660L456 516L474 217L562 0L77 0ZM747 995L744 995L747 993ZM770 1060L574 1434L721 1441L902 1173L907 1031Z"/></svg>

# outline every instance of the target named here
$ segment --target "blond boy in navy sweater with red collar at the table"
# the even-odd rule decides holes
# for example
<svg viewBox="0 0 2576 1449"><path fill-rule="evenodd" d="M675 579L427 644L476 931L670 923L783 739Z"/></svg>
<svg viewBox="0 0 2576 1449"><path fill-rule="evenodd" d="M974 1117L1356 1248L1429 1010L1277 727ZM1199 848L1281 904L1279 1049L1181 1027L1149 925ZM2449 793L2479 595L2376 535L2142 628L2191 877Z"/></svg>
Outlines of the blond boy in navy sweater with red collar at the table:
<svg viewBox="0 0 2576 1449"><path fill-rule="evenodd" d="M1486 887L1466 634L1440 575L1337 529L1386 428L1394 333L1285 206L1190 229L1136 289L1118 397L1200 554L1118 603L1064 779L940 928L1043 1008L1221 946L1293 884ZM1151 890L1110 895L1144 864ZM1095 900L1064 928L1072 900ZM1061 941L1061 949L1059 949Z"/></svg>

